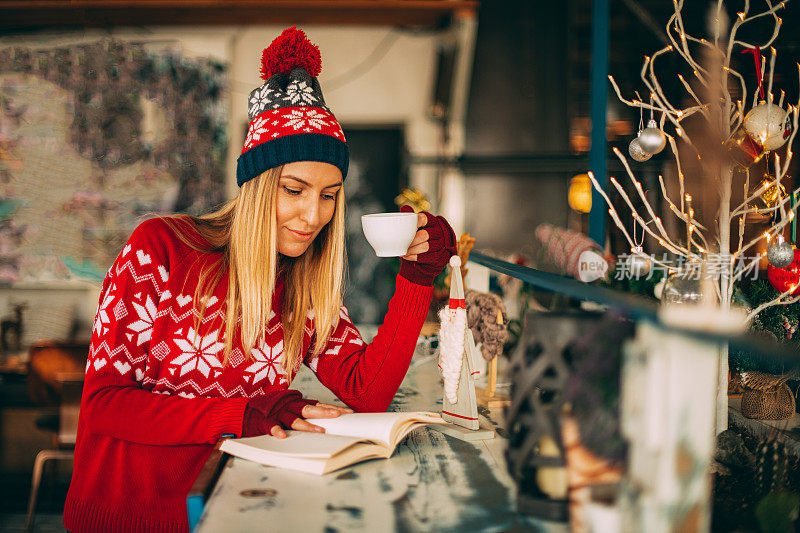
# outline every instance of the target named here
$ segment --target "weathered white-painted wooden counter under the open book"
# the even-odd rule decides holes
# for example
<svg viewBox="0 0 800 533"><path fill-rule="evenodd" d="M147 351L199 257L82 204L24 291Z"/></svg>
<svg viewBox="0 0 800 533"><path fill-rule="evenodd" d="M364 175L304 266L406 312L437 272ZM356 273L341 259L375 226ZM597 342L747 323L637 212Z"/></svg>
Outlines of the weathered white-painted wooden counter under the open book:
<svg viewBox="0 0 800 533"><path fill-rule="evenodd" d="M293 388L333 403L307 369ZM441 409L436 363L415 356L390 410ZM500 413L486 413L490 421ZM502 430L501 430L502 431ZM567 531L515 510L506 439L469 443L422 428L390 459L325 476L231 458L195 531Z"/></svg>

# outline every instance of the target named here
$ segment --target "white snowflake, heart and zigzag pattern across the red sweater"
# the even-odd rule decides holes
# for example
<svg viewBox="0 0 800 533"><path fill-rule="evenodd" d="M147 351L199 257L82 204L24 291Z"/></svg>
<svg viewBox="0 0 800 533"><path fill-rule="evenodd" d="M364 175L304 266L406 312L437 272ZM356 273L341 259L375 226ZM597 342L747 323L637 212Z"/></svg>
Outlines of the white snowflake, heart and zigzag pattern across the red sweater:
<svg viewBox="0 0 800 533"><path fill-rule="evenodd" d="M116 280L123 281L123 290L118 289ZM147 250L137 249L132 243L125 247L109 270L107 287L100 299L87 371L100 371L111 363L107 371L116 370L120 376L132 372L135 381L151 392L170 394L177 391L183 397L194 398L207 396L212 391L219 392L222 388L223 396L233 396L233 390L208 382L217 380L225 371L225 343L221 328L224 306L221 299L213 295L202 301L205 306L202 325L209 327L201 326L201 333L194 328L198 312L193 297L180 293L172 298L170 289L166 288L168 281L169 272L163 265L155 264ZM340 317L349 320L344 309ZM160 340L150 354L145 354L142 350L149 347L157 321L166 322L171 333ZM363 344L352 324L344 325L343 331L346 335L340 339L341 342L354 338L357 344ZM107 337L119 340L115 332L124 332L122 346L107 342ZM313 314L306 326L306 336L310 337L312 332ZM113 349L112 344L115 344ZM338 353L338 350L331 353ZM148 355L151 361L148 361ZM245 389L240 383L234 390L244 391L243 396L252 397L273 388L288 388L290 378L298 369L293 369L291 375L287 374L283 368L284 358L283 328L280 317L273 310L264 338L251 352L251 364L242 371L242 379L252 387ZM246 360L241 347L237 346L229 366L235 369Z"/></svg>

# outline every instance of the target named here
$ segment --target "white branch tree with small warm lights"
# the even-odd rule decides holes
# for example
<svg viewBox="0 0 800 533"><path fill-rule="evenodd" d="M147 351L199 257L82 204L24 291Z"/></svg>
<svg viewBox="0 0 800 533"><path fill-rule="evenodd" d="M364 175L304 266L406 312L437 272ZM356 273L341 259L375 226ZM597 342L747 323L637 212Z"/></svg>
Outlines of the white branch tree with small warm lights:
<svg viewBox="0 0 800 533"><path fill-rule="evenodd" d="M747 84L741 73L732 68L732 58L735 54L741 54L742 50L752 50L757 52L759 49L769 50L769 70L766 70L766 62L763 63L761 76L765 78L765 99L767 105L776 105L783 108L784 94L781 92L777 102L772 95L772 80L775 68L776 50L771 45L775 41L780 31L782 20L778 12L784 8L786 2L773 3L764 0L763 11L751 13L750 1L745 0L743 10L737 13L733 23L729 23L729 18L725 5L722 0L717 0L715 8L709 14L709 38L697 38L690 35L684 26L682 17L684 0L673 0L674 14L670 16L666 25L667 36L670 44L655 52L652 57L645 56L644 64L640 72L641 81L649 91L650 101L644 102L643 99L626 99L622 95L614 78L609 76L619 100L628 106L641 109L652 110L651 113L660 114L659 128L667 138L669 149L674 156L679 198L671 198L668 194L668 187L664 182L663 176L659 176L660 193L663 196L669 211L675 216L679 225L685 227L685 232L680 231L680 235L671 235L657 216L648 201L641 182L636 178L635 172L631 169L626 156L618 149L614 148L614 154L621 161L627 178L631 181L635 193L629 195L626 188L614 178L610 178L610 183L619 193L627 209L630 210L633 220L638 223L644 231L655 238L665 250L683 258L687 262L704 264L710 256L714 256L715 279L714 287L716 292L716 302L720 308L728 310L731 306L731 297L734 284L749 269L758 268L762 254L753 253L753 248L758 241L764 237L770 239L780 234L787 224L791 223L795 216L789 209L789 201L792 195L780 199L771 207L759 207L756 200L772 187L781 188L781 182L786 178L789 163L792 158L792 144L798 128L798 109L800 100L796 105L788 106L788 116L793 124L792 133L788 142L779 152L784 152L783 157L778 152L766 153L768 159L769 179L761 183L755 190L750 190L750 169L737 168L737 165L726 152L722 149L723 142L730 140L737 134L748 112L748 107L753 108L758 103L759 91L755 90L752 96L752 104L748 106ZM769 38L763 43L750 44L738 39L740 29L748 24L758 23L763 25L768 23L772 27ZM767 28L769 29L769 28ZM656 75L655 64L658 60L670 54L678 56L688 65L692 72L693 80L688 82L680 74L677 74L680 84L685 89L683 96L692 102L688 107L675 105L667 97ZM800 65L798 65L800 69ZM799 71L800 73L800 71ZM737 96L733 96L736 94ZM641 112L641 111L640 111ZM704 122L703 136L711 134L718 136L716 144L709 143L705 138L693 139L682 123L690 117L697 118L700 115ZM694 131L694 130L693 130ZM697 134L695 134L697 137ZM699 142L697 142L699 141ZM715 153L709 153L704 146L719 147ZM679 147L682 148L679 151ZM714 150L711 150L714 152ZM700 172L707 178L716 180L719 194L719 212L715 219L716 227L706 227L695 218L692 208L691 197L686 194L684 169L689 165L681 164L681 157L690 154L693 159L697 159ZM692 161L695 165L695 161ZM744 200L739 205L732 205L734 175L737 172L744 173ZM624 235L632 250L637 248L631 234L625 228L619 213L616 211L608 194L600 186L595 177L590 178L594 187L603 196L608 204L609 214L615 225ZM641 203L634 202L631 198L639 197ZM642 205L639 209L636 205ZM773 223L765 234L759 237L744 241L745 225L749 215L762 214L774 215L779 211L781 217L779 222ZM776 217L777 218L777 217ZM734 227L735 226L735 227ZM673 233L675 233L673 231ZM732 239L736 235L738 238ZM750 256L748 256L750 252ZM659 261L654 261L659 264ZM668 267L669 265L662 265ZM794 287L776 296L772 301L767 302L747 316L747 320L752 319L757 313L766 307L773 305L786 305L800 300L800 296L792 296ZM727 428L727 349L720 357L720 379L718 380L718 402L717 402L717 430L722 431ZM725 390L722 390L723 386ZM723 427L724 426L724 427Z"/></svg>

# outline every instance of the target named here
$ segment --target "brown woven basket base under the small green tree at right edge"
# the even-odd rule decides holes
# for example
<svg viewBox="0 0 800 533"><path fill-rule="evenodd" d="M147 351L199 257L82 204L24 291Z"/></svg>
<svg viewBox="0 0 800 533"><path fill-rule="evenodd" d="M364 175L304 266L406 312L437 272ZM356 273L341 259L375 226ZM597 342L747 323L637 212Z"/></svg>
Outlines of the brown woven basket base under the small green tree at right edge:
<svg viewBox="0 0 800 533"><path fill-rule="evenodd" d="M763 372L743 372L742 414L755 420L786 420L794 415L794 394L788 378Z"/></svg>

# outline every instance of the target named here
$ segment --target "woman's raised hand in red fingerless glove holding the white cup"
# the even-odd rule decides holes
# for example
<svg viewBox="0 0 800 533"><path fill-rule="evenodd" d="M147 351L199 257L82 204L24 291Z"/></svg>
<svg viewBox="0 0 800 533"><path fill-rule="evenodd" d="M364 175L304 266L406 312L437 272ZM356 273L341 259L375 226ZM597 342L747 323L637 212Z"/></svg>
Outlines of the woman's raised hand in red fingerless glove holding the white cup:
<svg viewBox="0 0 800 533"><path fill-rule="evenodd" d="M400 211L413 211L404 205ZM456 254L456 236L444 217L423 211L417 214L417 234L400 259L400 275L418 285L433 285L433 279Z"/></svg>

